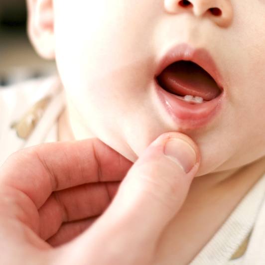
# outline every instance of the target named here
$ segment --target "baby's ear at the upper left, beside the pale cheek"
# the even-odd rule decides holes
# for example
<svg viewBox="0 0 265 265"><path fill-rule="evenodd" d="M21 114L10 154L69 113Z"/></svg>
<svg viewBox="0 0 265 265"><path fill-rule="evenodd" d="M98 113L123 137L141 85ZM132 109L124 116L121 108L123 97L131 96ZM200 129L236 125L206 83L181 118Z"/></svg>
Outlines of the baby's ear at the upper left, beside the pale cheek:
<svg viewBox="0 0 265 265"><path fill-rule="evenodd" d="M45 59L54 59L53 0L27 0L28 35L37 51Z"/></svg>

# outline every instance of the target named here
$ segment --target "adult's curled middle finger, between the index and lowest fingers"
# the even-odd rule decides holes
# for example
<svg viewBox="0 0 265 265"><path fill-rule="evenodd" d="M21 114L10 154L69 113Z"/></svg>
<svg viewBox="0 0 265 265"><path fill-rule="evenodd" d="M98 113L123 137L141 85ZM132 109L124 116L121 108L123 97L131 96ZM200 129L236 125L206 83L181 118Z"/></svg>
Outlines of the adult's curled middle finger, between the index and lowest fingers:
<svg viewBox="0 0 265 265"><path fill-rule="evenodd" d="M47 240L62 223L98 216L108 207L120 182L85 184L53 192L39 209L39 236Z"/></svg>

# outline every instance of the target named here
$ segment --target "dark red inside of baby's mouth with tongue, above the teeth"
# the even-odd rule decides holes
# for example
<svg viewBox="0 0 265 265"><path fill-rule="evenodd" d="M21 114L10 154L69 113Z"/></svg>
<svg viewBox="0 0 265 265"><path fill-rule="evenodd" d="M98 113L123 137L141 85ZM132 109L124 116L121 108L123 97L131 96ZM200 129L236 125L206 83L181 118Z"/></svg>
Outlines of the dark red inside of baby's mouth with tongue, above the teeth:
<svg viewBox="0 0 265 265"><path fill-rule="evenodd" d="M179 96L192 95L209 101L221 93L209 73L190 61L179 61L169 65L157 80L162 88Z"/></svg>

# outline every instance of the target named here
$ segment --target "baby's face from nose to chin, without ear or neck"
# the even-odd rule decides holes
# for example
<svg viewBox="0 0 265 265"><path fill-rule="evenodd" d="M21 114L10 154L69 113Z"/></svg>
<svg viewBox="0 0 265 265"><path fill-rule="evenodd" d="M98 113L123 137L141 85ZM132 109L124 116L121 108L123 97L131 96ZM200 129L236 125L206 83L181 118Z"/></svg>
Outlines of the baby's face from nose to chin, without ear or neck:
<svg viewBox="0 0 265 265"><path fill-rule="evenodd" d="M265 155L264 0L54 0L50 9L55 44L49 45L69 111L88 133L132 161L160 134L186 133L201 150L198 175ZM218 87L214 99L174 98L172 89L179 95L181 86L165 92L166 74L164 89L157 88L170 50L182 62L176 74L166 74L184 84L182 97L189 89L204 98Z"/></svg>

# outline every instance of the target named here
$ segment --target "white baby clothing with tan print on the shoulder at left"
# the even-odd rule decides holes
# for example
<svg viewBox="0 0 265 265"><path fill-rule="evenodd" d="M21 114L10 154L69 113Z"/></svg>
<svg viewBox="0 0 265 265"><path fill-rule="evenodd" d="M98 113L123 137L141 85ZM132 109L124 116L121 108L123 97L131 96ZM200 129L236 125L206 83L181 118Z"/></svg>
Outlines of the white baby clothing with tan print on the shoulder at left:
<svg viewBox="0 0 265 265"><path fill-rule="evenodd" d="M0 165L18 149L57 141L64 93L56 76L0 89Z"/></svg>

